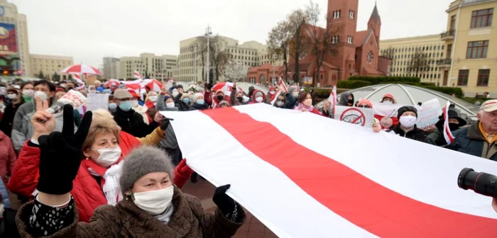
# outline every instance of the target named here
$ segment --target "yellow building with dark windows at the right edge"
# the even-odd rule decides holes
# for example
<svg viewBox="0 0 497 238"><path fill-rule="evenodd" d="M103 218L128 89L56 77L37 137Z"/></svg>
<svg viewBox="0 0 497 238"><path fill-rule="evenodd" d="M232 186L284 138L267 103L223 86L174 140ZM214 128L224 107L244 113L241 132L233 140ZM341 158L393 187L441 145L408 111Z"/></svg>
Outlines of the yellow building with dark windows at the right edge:
<svg viewBox="0 0 497 238"><path fill-rule="evenodd" d="M447 58L438 65L443 86L459 86L466 96L497 96L496 0L457 0L447 9Z"/></svg>

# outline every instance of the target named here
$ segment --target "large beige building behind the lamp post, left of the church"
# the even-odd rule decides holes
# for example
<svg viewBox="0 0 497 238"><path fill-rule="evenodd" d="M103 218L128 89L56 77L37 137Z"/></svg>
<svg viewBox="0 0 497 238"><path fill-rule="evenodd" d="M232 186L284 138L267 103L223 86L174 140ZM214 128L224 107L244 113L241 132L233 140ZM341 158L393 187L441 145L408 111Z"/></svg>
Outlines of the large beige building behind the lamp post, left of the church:
<svg viewBox="0 0 497 238"><path fill-rule="evenodd" d="M178 81L207 80L207 56L204 57L202 62L202 56L200 55L199 50L195 50L196 48L198 49L198 47L196 47L197 41L202 38L204 38L204 36L198 36L180 41L180 74ZM224 36L219 36L219 39L221 40L221 49L229 52L229 59L236 64L242 64L247 67L255 67L264 63L272 62L271 57L268 55L266 45L256 41L248 41L243 44L239 44L238 40ZM204 68L203 78L202 67ZM209 67L211 69L214 68L212 62ZM220 75L219 80L224 81L224 77Z"/></svg>

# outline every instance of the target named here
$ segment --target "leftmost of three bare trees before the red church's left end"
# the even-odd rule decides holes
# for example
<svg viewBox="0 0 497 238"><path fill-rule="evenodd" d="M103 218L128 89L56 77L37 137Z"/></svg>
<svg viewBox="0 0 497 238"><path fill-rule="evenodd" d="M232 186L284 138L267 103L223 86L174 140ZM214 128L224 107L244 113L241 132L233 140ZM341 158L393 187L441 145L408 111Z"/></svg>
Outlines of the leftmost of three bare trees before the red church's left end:
<svg viewBox="0 0 497 238"><path fill-rule="evenodd" d="M288 28L287 21L280 21L271 32L268 34L269 55L276 54L278 57L283 57L283 65L285 65L285 80L288 80L288 50L292 35Z"/></svg>

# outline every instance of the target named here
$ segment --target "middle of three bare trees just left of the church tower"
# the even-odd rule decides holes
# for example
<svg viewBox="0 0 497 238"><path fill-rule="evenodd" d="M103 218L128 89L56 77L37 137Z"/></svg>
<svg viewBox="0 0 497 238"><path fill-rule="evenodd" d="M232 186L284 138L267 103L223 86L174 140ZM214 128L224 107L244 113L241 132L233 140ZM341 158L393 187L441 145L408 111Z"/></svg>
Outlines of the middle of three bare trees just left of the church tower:
<svg viewBox="0 0 497 238"><path fill-rule="evenodd" d="M300 65L299 60L300 57L305 56L307 54L306 44L305 44L305 35L304 28L306 24L306 16L305 12L302 9L297 9L290 13L287 18L288 23L288 33L292 35L289 44L290 56L295 60L295 74L293 75L293 80L295 82L300 81Z"/></svg>

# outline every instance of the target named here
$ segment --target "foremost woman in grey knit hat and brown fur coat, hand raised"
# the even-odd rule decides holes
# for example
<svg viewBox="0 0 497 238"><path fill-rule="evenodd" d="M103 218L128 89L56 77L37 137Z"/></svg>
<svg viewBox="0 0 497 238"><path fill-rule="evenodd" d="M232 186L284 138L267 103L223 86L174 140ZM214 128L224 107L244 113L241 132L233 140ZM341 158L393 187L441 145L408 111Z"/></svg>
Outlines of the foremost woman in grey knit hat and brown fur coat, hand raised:
<svg viewBox="0 0 497 238"><path fill-rule="evenodd" d="M75 135L52 132L39 137L39 193L18 212L21 237L231 237L244 223L243 208L226 195L229 184L216 189L212 200L218 209L206 214L198 198L172 183L170 158L146 146L124 159L119 185L125 199L100 206L89 223L78 223L70 191L88 130L83 126Z"/></svg>

